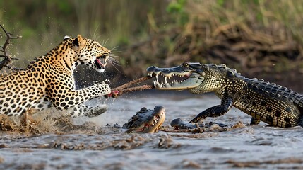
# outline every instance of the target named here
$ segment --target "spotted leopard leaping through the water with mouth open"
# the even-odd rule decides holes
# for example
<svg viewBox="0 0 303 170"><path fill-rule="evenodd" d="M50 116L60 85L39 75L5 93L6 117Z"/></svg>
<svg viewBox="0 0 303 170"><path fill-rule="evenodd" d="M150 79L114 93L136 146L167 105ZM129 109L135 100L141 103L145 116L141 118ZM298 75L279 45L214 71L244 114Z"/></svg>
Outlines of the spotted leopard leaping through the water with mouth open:
<svg viewBox="0 0 303 170"><path fill-rule="evenodd" d="M87 106L85 101L110 94L105 81L76 89L73 71L79 65L105 72L110 50L99 42L69 36L46 55L35 57L25 69L0 75L0 114L22 115L54 107L71 117L95 117L107 111L106 104Z"/></svg>

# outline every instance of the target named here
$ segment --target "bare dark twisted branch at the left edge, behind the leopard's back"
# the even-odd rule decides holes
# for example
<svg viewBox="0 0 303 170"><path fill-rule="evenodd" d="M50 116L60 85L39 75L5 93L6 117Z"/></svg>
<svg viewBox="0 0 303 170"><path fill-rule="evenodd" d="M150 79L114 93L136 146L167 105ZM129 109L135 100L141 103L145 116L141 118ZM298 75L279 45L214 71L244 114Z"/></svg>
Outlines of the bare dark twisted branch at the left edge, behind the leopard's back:
<svg viewBox="0 0 303 170"><path fill-rule="evenodd" d="M11 57L11 55L8 55L8 51L6 49L6 47L10 44L11 39L17 39L17 38L22 38L21 36L17 36L17 37L13 37L11 33L8 33L3 26L0 25L0 27L2 28L2 30L4 31L4 33L6 34L6 42L4 42L3 46L0 46L0 48L2 50L0 50L1 52L3 52L3 55L0 55L0 57L4 57L4 60L2 60L0 62L0 69L3 69L4 67L8 67L8 64L11 64L11 60L18 60L17 58L13 58ZM14 71L20 71L22 69L17 69L17 68L13 68L13 67L8 67L8 69L12 69Z"/></svg>

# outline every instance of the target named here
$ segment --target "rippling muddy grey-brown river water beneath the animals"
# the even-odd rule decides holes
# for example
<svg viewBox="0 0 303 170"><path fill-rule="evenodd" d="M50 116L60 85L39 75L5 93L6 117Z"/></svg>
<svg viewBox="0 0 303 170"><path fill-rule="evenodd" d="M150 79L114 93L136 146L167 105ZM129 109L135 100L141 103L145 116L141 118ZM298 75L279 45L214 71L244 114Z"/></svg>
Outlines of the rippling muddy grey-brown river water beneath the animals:
<svg viewBox="0 0 303 170"><path fill-rule="evenodd" d="M93 103L103 103L94 101ZM0 169L303 169L303 129L246 125L225 132L126 134L119 128L141 107L165 106L169 125L174 118L191 120L220 101L211 95L143 93L107 99L107 113L76 118L87 128L24 134L3 132ZM208 121L249 123L233 109Z"/></svg>

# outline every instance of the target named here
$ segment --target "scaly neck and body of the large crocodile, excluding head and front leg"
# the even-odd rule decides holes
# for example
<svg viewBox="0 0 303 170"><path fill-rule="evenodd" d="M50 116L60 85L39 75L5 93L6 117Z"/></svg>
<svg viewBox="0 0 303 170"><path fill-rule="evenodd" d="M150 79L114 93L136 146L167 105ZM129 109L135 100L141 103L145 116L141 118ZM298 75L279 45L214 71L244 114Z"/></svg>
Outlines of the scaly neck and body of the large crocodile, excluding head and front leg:
<svg viewBox="0 0 303 170"><path fill-rule="evenodd" d="M225 65L208 64L203 68L211 73L206 79L213 81L203 82L198 88L191 89L192 92L199 93L199 89L205 91L206 84L219 84L220 88L215 89L215 94L219 98L223 98L225 93L231 96L234 107L252 116L252 124L262 120L279 127L297 125L303 111L302 95L263 79L245 78Z"/></svg>

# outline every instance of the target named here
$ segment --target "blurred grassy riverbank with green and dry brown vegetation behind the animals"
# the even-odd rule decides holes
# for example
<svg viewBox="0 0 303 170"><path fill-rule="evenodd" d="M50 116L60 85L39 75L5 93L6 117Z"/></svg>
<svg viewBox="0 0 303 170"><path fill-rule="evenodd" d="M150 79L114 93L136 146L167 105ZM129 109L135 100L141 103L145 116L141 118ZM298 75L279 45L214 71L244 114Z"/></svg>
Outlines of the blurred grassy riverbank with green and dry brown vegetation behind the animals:
<svg viewBox="0 0 303 170"><path fill-rule="evenodd" d="M302 13L296 0L0 1L0 24L23 37L8 49L19 58L14 67L25 68L65 35L95 39L119 56L120 65L102 75L78 68L81 86L108 78L118 86L150 65L191 61L225 63L245 77L303 91ZM5 40L1 31L0 45Z"/></svg>

